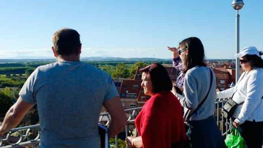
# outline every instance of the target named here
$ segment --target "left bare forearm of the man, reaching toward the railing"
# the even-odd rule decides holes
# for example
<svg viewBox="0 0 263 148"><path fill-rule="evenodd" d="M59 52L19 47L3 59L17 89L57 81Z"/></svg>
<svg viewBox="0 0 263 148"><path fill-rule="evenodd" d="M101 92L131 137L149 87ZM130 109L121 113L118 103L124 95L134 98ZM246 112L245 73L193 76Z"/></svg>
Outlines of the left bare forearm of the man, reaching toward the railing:
<svg viewBox="0 0 263 148"><path fill-rule="evenodd" d="M33 106L34 104L27 103L23 101L22 97L19 97L16 103L7 111L3 123L0 125L0 136L15 128Z"/></svg>

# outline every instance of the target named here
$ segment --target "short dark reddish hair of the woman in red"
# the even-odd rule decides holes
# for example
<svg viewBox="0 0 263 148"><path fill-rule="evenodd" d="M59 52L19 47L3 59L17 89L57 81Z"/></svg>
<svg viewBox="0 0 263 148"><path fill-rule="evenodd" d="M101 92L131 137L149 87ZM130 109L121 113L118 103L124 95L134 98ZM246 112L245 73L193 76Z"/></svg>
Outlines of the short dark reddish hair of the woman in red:
<svg viewBox="0 0 263 148"><path fill-rule="evenodd" d="M153 93L172 90L172 81L163 65L153 63L140 69L140 72L150 74Z"/></svg>

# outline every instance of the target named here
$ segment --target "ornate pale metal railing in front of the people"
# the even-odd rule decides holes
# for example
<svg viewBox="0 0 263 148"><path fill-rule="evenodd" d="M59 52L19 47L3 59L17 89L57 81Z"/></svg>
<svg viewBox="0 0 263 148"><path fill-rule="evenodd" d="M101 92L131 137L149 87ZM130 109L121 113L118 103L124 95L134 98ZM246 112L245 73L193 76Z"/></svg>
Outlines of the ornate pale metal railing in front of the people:
<svg viewBox="0 0 263 148"><path fill-rule="evenodd" d="M227 99L216 99L215 100L215 121L221 130L221 134L223 136L227 135L227 132L230 131L232 128L232 121L227 120L224 118L223 114L221 114L221 108L224 106L224 104L227 102ZM127 137L129 134L129 127L134 125L134 119L136 116L139 114L140 110L142 107L136 107L132 109L125 109L126 115L127 115L127 121L128 123L126 124L125 127L125 136ZM109 126L111 121L111 117L108 112L100 114L99 118L99 123ZM32 138L32 131L37 132L37 135ZM30 132L31 131L31 132ZM16 138L17 141L11 140L10 137L13 133L18 133L18 138ZM30 145L31 147L35 147L35 145L39 144L40 141L40 124L32 125L32 126L25 126L25 127L19 127L19 128L14 128L8 132L7 136L5 138L0 137L0 147L1 148L13 148L13 147L21 147L21 146L28 146ZM118 148L118 143L117 143L117 136L115 136L115 147ZM13 141L13 142L12 142ZM5 145L3 145L5 144Z"/></svg>

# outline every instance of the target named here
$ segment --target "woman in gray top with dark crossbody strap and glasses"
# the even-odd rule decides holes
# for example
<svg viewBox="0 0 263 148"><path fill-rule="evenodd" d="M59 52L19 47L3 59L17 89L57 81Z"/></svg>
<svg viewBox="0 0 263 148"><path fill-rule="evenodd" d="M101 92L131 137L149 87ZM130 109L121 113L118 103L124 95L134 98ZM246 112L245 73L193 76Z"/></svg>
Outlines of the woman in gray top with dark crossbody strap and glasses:
<svg viewBox="0 0 263 148"><path fill-rule="evenodd" d="M180 43L178 51L185 73L185 96L173 91L184 107L184 119L189 126L186 135L191 147L224 148L226 147L224 139L213 116L216 94L215 75L204 62L203 44L197 37L190 37ZM201 103L203 100L204 102ZM198 107L200 104L202 105Z"/></svg>

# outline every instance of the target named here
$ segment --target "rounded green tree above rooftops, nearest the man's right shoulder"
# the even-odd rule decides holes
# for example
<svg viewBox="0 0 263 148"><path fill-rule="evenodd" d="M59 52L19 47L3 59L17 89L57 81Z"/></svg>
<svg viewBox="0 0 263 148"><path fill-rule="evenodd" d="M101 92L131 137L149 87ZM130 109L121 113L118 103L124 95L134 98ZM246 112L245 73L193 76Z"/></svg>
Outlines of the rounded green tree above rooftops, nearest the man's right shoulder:
<svg viewBox="0 0 263 148"><path fill-rule="evenodd" d="M129 70L124 63L119 63L116 66L115 71L112 72L111 77L113 78L128 78Z"/></svg>

